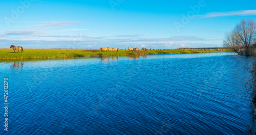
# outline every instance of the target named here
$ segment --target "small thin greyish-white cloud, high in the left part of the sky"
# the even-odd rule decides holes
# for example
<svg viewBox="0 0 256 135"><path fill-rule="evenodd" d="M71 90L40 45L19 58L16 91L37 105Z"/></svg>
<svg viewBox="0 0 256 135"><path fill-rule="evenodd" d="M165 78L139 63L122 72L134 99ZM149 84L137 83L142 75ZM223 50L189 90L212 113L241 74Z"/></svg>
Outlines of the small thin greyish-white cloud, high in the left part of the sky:
<svg viewBox="0 0 256 135"><path fill-rule="evenodd" d="M81 21L52 21L52 22L45 22L44 24L37 24L37 25L26 25L28 27L39 27L39 28L49 28L53 26L65 26L72 23L82 23Z"/></svg>

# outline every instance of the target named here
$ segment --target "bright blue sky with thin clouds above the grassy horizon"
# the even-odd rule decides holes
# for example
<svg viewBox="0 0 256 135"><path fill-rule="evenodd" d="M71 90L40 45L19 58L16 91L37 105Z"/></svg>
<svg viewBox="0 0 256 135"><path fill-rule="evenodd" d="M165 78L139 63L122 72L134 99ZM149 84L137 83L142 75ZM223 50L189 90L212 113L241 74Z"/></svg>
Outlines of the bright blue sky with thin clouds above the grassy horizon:
<svg viewBox="0 0 256 135"><path fill-rule="evenodd" d="M225 32L243 17L256 21L256 1L0 3L1 48L222 47Z"/></svg>

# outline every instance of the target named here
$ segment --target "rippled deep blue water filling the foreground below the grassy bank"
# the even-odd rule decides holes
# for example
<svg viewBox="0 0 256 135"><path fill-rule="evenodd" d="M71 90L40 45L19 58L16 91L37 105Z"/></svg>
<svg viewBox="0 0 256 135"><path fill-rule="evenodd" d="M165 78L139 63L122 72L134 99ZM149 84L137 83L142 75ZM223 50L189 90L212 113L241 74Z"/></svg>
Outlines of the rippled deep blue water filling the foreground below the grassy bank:
<svg viewBox="0 0 256 135"><path fill-rule="evenodd" d="M249 62L233 53L0 61L8 134L247 134Z"/></svg>

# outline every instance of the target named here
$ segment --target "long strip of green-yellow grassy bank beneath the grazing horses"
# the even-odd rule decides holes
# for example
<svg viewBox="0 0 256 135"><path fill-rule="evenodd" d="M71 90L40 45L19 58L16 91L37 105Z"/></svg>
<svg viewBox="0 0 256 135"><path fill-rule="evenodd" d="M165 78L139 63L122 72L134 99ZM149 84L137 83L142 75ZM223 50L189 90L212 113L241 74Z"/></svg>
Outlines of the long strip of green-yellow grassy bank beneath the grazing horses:
<svg viewBox="0 0 256 135"><path fill-rule="evenodd" d="M17 51L16 51L17 52ZM23 53L14 53L12 49L0 49L0 59L37 59L65 57L130 56L160 55L178 53L232 52L217 50L140 50L138 52L118 50L118 52L101 52L99 49L24 49Z"/></svg>

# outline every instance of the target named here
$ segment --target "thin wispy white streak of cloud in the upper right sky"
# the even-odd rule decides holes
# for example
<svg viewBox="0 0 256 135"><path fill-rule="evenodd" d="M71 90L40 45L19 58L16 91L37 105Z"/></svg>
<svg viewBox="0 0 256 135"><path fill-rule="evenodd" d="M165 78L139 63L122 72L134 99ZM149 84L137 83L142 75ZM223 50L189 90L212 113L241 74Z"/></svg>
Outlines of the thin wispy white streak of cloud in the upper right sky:
<svg viewBox="0 0 256 135"><path fill-rule="evenodd" d="M199 18L212 18L219 16L234 16L234 15L256 15L256 10L241 10L241 11L229 11L229 12L212 12L205 15L196 15Z"/></svg>

